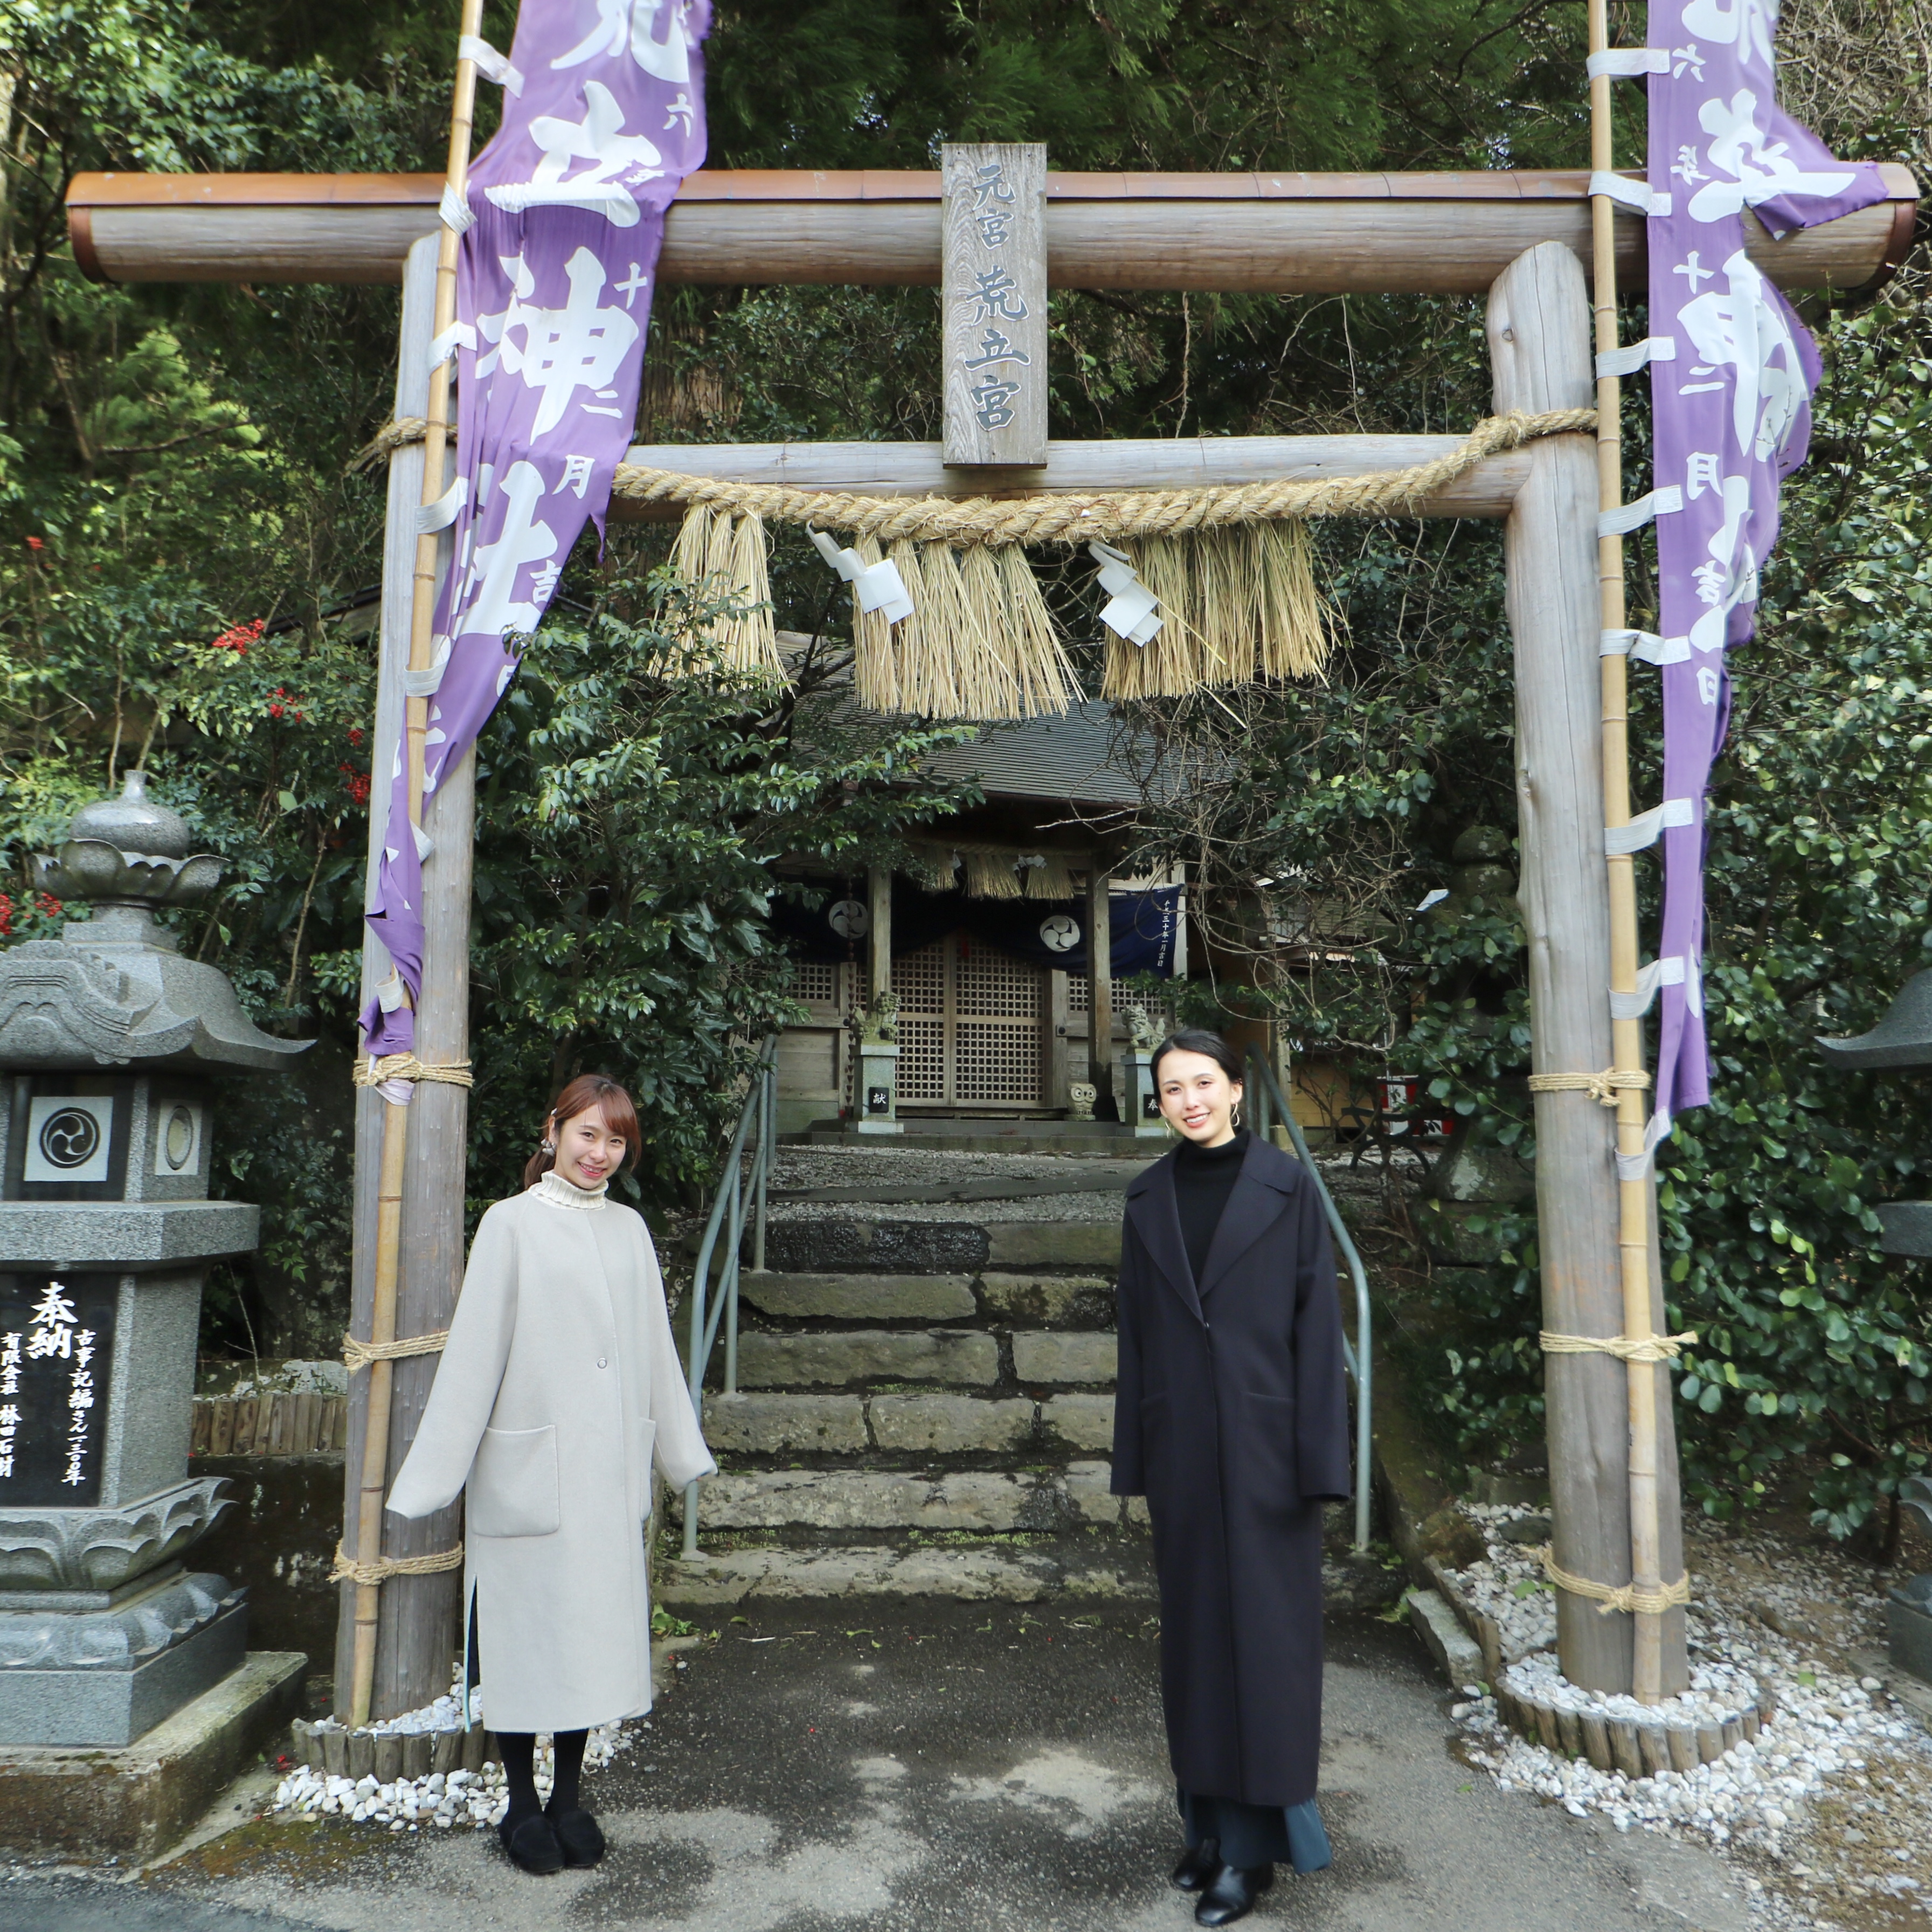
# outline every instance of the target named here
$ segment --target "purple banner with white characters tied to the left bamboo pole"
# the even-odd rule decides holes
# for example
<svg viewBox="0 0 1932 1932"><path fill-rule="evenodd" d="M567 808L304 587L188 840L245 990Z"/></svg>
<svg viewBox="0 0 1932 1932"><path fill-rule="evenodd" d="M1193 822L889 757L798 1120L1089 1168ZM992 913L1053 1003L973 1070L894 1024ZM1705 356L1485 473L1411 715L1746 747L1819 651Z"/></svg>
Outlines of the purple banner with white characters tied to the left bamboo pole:
<svg viewBox="0 0 1932 1932"><path fill-rule="evenodd" d="M464 43L504 87L497 137L469 168L456 327L454 531L437 595L423 798L475 744L585 522L599 537L638 417L665 209L705 158L699 46L709 0L531 0L504 60ZM435 522L429 524L435 527ZM421 690L421 684L413 684ZM367 920L398 980L361 1014L371 1055L415 1039L423 856L398 748ZM408 989L410 999L402 993Z"/></svg>

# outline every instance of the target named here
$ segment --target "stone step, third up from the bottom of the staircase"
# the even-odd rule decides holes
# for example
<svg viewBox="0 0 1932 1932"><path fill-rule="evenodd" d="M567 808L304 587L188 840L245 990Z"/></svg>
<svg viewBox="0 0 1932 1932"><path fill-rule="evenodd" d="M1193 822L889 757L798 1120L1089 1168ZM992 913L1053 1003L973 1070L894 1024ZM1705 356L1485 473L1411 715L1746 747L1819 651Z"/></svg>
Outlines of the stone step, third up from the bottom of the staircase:
<svg viewBox="0 0 1932 1932"><path fill-rule="evenodd" d="M1111 1449L1113 1397L707 1395L705 1441L721 1455L753 1457Z"/></svg>

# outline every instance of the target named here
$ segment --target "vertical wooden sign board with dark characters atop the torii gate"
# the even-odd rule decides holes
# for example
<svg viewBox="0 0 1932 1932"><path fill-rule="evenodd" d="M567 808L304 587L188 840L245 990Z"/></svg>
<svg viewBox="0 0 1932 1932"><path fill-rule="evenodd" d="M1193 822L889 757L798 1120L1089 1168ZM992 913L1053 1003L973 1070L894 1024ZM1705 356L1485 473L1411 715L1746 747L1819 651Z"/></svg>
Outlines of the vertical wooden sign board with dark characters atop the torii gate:
<svg viewBox="0 0 1932 1932"><path fill-rule="evenodd" d="M947 468L1047 460L1047 151L941 155Z"/></svg>

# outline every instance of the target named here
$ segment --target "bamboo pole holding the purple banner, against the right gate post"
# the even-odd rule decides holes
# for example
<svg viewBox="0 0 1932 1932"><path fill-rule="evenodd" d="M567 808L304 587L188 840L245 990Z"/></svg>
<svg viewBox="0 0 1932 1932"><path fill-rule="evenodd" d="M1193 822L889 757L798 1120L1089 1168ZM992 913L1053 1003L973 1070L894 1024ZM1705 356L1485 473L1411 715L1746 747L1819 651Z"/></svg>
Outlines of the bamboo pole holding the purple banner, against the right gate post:
<svg viewBox="0 0 1932 1932"><path fill-rule="evenodd" d="M1590 52L1609 46L1607 0L1588 0ZM1615 129L1611 126L1611 79L1598 73L1590 81L1590 168L1615 168ZM1607 195L1590 201L1592 290L1596 315L1598 357L1617 348L1617 240L1615 203ZM1598 502L1615 510L1623 502L1623 442L1621 442L1623 384L1613 375L1596 379L1596 473ZM1598 593L1604 630L1625 628L1623 597L1623 537L1600 535L1596 541ZM1607 653L1600 659L1604 680L1604 825L1631 823L1631 744L1629 744L1629 659ZM1613 993L1636 991L1638 927L1636 927L1636 860L1615 854L1609 866L1609 985ZM1644 1068L1644 1022L1617 1018L1609 1022L1609 1057L1619 1074L1640 1074ZM1644 1122L1650 1113L1644 1088L1617 1088L1617 1153L1640 1159L1644 1151ZM1650 1312L1650 1179L1617 1182L1617 1254L1623 1275L1623 1333L1631 1341L1648 1341L1656 1331ZM1648 1362L1625 1368L1631 1408L1631 1584L1636 1590L1663 1588L1663 1517L1658 1503L1658 1374ZM1634 1615L1634 1654L1631 1689L1640 1704L1663 1700L1663 1613L1638 1609ZM1679 1677L1681 1671L1669 1675Z"/></svg>

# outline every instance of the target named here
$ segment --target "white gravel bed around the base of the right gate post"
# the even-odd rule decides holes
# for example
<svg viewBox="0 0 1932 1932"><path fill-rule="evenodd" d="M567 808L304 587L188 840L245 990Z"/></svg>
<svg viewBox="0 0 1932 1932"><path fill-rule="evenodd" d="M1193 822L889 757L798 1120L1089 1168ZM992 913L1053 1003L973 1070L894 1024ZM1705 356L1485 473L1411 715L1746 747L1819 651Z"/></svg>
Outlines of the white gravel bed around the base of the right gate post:
<svg viewBox="0 0 1932 1932"><path fill-rule="evenodd" d="M1497 1719L1486 1687L1466 1685L1451 1716L1470 1764L1573 1816L1594 1812L1619 1832L1642 1826L1721 1851L1754 1893L1770 1884L1779 1924L1837 1926L1839 1913L1861 1926L1932 1922L1932 1731L1849 1662L1853 1650L1884 1648L1886 1584L1874 1588L1868 1567L1770 1530L1698 1534L1692 1524L1690 1690L1642 1706L1563 1679L1555 1600L1534 1548L1499 1534L1536 1511L1463 1509L1486 1532L1488 1555L1453 1575L1497 1619L1517 1696L1636 1723L1723 1723L1760 1685L1776 1700L1756 1741L1689 1772L1631 1779L1526 1743ZM1880 1901L1909 1917L1866 1920Z"/></svg>

